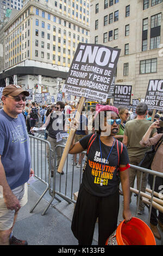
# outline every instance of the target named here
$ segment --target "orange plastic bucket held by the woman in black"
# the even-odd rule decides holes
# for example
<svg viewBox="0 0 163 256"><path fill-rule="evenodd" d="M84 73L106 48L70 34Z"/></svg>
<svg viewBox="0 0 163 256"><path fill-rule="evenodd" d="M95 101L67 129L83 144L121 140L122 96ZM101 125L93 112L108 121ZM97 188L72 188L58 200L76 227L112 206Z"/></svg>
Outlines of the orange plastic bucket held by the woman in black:
<svg viewBox="0 0 163 256"><path fill-rule="evenodd" d="M156 245L156 242L148 225L133 217L127 223L122 221L105 245Z"/></svg>

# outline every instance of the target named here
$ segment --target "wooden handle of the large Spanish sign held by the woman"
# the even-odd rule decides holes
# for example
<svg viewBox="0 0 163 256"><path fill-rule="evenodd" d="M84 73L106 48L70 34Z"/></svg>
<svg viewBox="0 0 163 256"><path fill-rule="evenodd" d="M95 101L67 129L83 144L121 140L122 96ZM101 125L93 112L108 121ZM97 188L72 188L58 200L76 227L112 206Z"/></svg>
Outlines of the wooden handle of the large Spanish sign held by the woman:
<svg viewBox="0 0 163 256"><path fill-rule="evenodd" d="M77 113L76 113L76 116L75 116L75 119L77 121L79 121L80 114L82 113L84 103L85 103L85 97L81 97L80 102L79 102L79 106L78 106L78 109L77 109ZM67 158L67 155L68 155L68 152L70 150L70 146L71 146L71 143L72 143L72 140L73 140L73 137L74 137L74 133L76 133L76 130L72 128L70 130L69 136L67 138L65 149L64 149L64 152L62 154L60 164L59 164L59 167L58 167L58 170L57 170L57 172L59 172L59 173L61 173L62 169L64 168L66 158Z"/></svg>

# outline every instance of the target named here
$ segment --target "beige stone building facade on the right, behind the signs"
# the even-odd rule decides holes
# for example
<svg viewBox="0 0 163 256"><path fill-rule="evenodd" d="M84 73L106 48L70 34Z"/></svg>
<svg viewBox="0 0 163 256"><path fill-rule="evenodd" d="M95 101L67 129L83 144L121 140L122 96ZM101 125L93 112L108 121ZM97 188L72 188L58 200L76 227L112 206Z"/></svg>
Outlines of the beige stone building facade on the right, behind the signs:
<svg viewBox="0 0 163 256"><path fill-rule="evenodd" d="M162 0L91 0L90 42L121 49L116 84L143 99L148 81L163 78Z"/></svg>

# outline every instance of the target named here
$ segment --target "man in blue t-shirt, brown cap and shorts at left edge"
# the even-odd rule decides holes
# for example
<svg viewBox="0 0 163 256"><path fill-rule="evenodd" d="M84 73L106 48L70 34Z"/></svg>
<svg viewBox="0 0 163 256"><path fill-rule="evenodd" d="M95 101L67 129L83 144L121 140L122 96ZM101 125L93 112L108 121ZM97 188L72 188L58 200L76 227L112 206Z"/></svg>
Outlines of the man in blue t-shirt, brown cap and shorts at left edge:
<svg viewBox="0 0 163 256"><path fill-rule="evenodd" d="M0 111L0 245L27 245L12 235L18 210L27 203L30 168L29 138L22 111L29 93L9 85Z"/></svg>

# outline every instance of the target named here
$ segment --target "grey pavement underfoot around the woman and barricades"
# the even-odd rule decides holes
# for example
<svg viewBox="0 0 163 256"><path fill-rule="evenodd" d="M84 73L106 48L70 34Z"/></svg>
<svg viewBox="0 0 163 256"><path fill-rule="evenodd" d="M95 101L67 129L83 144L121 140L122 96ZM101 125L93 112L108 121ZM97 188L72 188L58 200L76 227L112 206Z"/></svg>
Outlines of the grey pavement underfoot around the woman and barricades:
<svg viewBox="0 0 163 256"><path fill-rule="evenodd" d="M41 187L42 191L37 188ZM40 198L45 184L41 181L36 181L34 184L28 186L28 203L20 209L17 221L14 226L13 235L18 239L27 240L28 245L78 245L77 239L73 236L71 231L71 220L73 216L74 204L68 204L65 200L58 203L54 199L52 205L49 207L45 215L41 215L45 210L51 196L48 192L41 199L34 211L30 213L37 199ZM118 224L123 220L123 196L120 196L120 212L118 215ZM136 212L136 197L132 197L130 210L133 216ZM148 209L145 208L143 215L138 215L142 221L148 222ZM162 234L162 233L161 233ZM95 233L93 236L92 245L98 245L98 223L96 223ZM162 240L156 239L156 245L163 245Z"/></svg>

